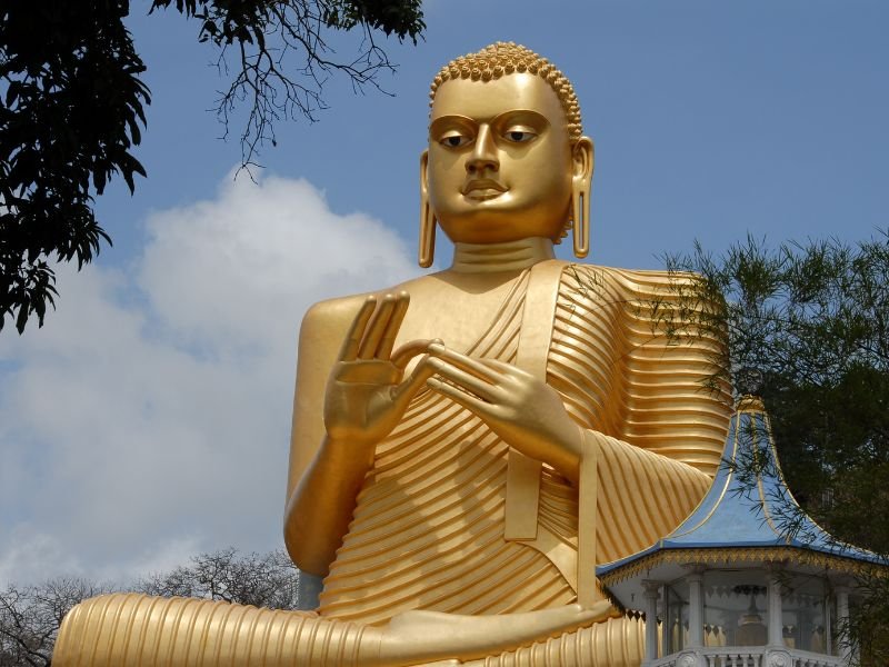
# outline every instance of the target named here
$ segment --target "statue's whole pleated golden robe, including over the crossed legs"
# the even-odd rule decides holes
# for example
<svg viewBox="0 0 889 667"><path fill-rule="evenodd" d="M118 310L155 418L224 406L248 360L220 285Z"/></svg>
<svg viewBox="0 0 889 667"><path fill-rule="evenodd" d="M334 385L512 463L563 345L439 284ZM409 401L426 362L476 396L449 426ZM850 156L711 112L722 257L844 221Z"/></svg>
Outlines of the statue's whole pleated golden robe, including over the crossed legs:
<svg viewBox="0 0 889 667"><path fill-rule="evenodd" d="M510 457L517 452L466 408L422 390L377 447L317 613L107 596L66 620L57 665L138 664L133 656L169 667L361 663L362 643L378 641L398 614L493 615L568 605L578 600L579 580L595 581L596 563L647 548L672 530L703 497L720 462L730 407L726 392L702 386L716 342L675 344L652 323L676 298L666 272L542 263L516 281L487 331L465 351L520 366L523 357L539 357L540 374L596 451L595 478L585 480L581 471L580 480L581 496L585 484L595 488L588 504L595 507L579 507L578 488L542 464L535 474L536 509L525 517L531 531L508 535L508 496L516 492ZM541 307L537 295L547 292L556 298ZM539 322L529 326L530 315L548 318L549 335L529 352L530 329L538 338L541 330ZM578 556L583 544L593 546ZM629 667L642 655L643 624L625 617L471 664Z"/></svg>

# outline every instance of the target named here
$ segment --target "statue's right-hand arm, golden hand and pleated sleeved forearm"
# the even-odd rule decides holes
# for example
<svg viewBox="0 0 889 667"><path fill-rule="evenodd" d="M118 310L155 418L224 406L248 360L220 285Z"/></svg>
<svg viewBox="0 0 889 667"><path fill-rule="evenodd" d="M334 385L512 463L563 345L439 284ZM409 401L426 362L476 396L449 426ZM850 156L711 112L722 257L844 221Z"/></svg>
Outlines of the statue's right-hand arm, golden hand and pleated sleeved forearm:
<svg viewBox="0 0 889 667"><path fill-rule="evenodd" d="M555 389L520 369L442 346L431 346L430 354L440 376L429 380L434 390L596 497L598 518L580 517L581 532L596 536L587 558L605 563L650 546L695 508L710 485L711 478L692 466L581 429Z"/></svg>

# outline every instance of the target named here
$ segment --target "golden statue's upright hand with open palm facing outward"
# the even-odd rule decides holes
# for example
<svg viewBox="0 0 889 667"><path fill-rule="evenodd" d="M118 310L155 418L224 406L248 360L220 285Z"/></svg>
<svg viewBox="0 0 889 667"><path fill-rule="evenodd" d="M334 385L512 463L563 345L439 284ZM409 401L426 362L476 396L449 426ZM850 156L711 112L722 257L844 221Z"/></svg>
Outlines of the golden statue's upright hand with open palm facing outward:
<svg viewBox="0 0 889 667"><path fill-rule="evenodd" d="M331 441L372 455L434 372L421 359L404 379L410 360L433 341L414 340L392 352L409 302L409 295L399 292L386 295L379 303L370 296L361 306L324 392L324 427Z"/></svg>

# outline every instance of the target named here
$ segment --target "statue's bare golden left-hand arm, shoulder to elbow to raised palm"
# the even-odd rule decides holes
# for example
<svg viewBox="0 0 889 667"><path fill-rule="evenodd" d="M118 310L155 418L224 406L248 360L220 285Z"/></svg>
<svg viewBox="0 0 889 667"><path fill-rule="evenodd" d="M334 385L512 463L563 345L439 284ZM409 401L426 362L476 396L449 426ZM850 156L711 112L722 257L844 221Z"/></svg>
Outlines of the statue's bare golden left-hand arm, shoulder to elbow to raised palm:
<svg viewBox="0 0 889 667"><path fill-rule="evenodd" d="M350 308L353 302L328 302L312 308L303 320L291 445L294 486L288 498L284 540L293 560L308 573L327 574L377 444L433 372L421 360L404 378L408 362L423 354L429 341L392 350L409 300L407 292L370 296L361 300L357 313ZM351 325L339 337L343 315L352 316ZM342 340L332 360L331 339ZM310 366L303 371L307 358ZM324 368L331 369L326 378ZM323 396L322 404L318 396ZM319 436L320 446L313 448Z"/></svg>

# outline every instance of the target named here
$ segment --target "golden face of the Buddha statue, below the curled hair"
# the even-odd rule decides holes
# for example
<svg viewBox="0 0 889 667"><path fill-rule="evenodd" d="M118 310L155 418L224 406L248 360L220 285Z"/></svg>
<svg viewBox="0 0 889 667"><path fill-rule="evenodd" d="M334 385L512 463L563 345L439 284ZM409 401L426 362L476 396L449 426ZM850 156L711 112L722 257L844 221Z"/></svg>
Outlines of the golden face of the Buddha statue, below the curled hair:
<svg viewBox="0 0 889 667"><path fill-rule="evenodd" d="M455 242L556 238L569 218L572 146L559 98L536 74L442 83L422 168Z"/></svg>

